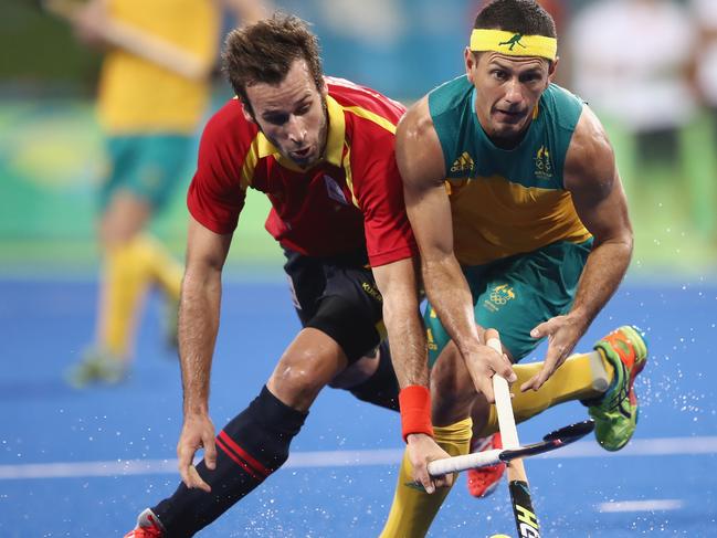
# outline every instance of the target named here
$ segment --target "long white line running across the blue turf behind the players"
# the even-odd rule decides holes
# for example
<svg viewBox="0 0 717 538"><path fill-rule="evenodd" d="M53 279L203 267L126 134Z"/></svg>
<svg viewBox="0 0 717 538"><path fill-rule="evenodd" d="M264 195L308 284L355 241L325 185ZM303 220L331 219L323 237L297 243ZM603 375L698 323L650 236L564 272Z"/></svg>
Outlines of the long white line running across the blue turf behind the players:
<svg viewBox="0 0 717 538"><path fill-rule="evenodd" d="M559 451L536 456L535 460L698 454L717 454L717 436L641 439L632 441L620 452L605 452L592 441L582 441ZM283 468L394 465L401 461L403 451L400 449L296 452L289 456ZM177 460L116 460L108 462L0 465L0 481L177 473Z"/></svg>

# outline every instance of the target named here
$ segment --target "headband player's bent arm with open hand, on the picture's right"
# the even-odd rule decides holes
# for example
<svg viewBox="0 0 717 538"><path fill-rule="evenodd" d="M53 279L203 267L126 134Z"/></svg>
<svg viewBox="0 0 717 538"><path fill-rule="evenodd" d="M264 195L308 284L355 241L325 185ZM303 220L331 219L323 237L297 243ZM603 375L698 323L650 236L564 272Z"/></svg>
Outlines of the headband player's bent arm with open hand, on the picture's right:
<svg viewBox="0 0 717 538"><path fill-rule="evenodd" d="M566 157L565 187L580 220L594 236L572 308L538 325L530 336L549 337L545 366L523 390L537 390L570 355L622 281L633 235L625 193L610 141L594 114L583 108Z"/></svg>

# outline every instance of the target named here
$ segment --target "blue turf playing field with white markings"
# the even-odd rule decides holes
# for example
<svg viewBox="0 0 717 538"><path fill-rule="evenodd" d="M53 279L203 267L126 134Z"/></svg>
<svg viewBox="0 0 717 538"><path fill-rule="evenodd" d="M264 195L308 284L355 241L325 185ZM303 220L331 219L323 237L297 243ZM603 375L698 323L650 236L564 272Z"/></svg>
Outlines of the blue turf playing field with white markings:
<svg viewBox="0 0 717 538"><path fill-rule="evenodd" d="M0 281L0 537L123 536L177 484L179 369L161 346L154 299L127 383L77 392L62 380L91 336L95 292L92 282ZM283 284L228 283L224 296L211 400L218 428L257 393L298 327ZM651 344L636 441L613 456L588 441L528 462L544 536L717 536L717 287L633 281L580 348L624 323ZM520 425L521 440L584 414L572 403L551 410ZM396 414L326 390L292 465L200 536L377 536L400 449ZM505 485L475 500L461 479L431 536L515 535L507 507Z"/></svg>

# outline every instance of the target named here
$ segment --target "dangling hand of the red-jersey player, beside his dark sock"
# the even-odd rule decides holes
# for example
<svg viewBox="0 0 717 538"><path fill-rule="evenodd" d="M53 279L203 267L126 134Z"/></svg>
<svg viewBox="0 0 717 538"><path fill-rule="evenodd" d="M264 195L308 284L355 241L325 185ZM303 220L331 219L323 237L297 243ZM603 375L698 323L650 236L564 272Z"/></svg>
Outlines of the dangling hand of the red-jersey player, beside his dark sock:
<svg viewBox="0 0 717 538"><path fill-rule="evenodd" d="M184 415L177 456L179 457L179 474L187 487L198 487L207 493L212 488L207 484L194 467L194 454L199 449L204 449L204 464L207 468L217 467L217 446L214 444L214 424L208 414Z"/></svg>

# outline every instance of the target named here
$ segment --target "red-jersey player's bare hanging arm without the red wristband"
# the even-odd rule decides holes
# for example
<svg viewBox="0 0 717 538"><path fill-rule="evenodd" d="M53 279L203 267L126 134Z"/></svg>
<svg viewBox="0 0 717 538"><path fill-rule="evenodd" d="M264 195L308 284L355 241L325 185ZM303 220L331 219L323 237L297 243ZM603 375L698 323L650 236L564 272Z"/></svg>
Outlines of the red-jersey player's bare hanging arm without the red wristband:
<svg viewBox="0 0 717 538"><path fill-rule="evenodd" d="M190 218L187 268L179 305L179 356L182 373L184 423L177 446L179 470L188 487L209 486L192 465L204 447L209 468L215 461L214 429L209 419L209 380L219 330L221 273L231 234L219 235Z"/></svg>

